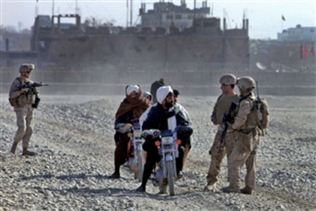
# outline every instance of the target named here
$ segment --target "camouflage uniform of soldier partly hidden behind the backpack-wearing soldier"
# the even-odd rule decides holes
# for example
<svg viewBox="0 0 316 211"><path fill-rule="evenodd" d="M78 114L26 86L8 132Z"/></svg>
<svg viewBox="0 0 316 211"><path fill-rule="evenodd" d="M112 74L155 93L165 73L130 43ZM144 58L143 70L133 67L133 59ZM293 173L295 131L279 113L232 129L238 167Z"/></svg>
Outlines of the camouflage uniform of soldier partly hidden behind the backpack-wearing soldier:
<svg viewBox="0 0 316 211"><path fill-rule="evenodd" d="M227 130L221 149L218 150L221 142L222 131L224 129L222 125L222 115L225 111L228 111L231 102L238 103L238 100L239 97L237 95L229 97L225 94L222 94L217 99L217 102L214 106L211 118L215 118L218 123L221 123L221 125L218 126L213 145L209 151L211 155L211 163L206 177L208 186L214 185L217 182L217 176L220 173L221 163L225 156L225 152L228 158L234 148L236 132L233 132L233 130Z"/></svg>

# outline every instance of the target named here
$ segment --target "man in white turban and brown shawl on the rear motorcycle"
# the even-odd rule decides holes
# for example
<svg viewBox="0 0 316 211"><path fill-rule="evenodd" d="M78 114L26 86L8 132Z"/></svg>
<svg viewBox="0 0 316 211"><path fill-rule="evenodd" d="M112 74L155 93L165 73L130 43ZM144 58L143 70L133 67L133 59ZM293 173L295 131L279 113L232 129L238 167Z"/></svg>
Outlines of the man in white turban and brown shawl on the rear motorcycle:
<svg viewBox="0 0 316 211"><path fill-rule="evenodd" d="M114 135L114 173L109 178L119 178L119 167L123 165L130 157L130 140L132 134L132 124L137 122L139 117L151 106L151 102L143 97L143 92L139 85L128 85L125 89L126 98L121 102L115 114ZM120 123L125 124L119 129ZM121 124L122 125L122 124Z"/></svg>

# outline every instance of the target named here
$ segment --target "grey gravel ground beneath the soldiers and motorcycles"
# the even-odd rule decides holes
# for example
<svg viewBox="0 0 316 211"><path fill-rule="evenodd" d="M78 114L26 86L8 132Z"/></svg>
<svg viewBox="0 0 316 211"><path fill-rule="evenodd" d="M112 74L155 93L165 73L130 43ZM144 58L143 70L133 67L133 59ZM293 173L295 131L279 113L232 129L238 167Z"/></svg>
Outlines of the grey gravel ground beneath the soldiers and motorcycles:
<svg viewBox="0 0 316 211"><path fill-rule="evenodd" d="M9 153L15 112L6 94L0 106L0 210L315 210L316 98L265 96L270 130L257 152L257 188L252 195L225 194L226 159L215 193L204 191L208 150L216 127L210 113L216 97L184 97L179 102L193 121L192 149L175 196L147 193L121 168L112 174L114 114L123 96L42 96L35 111L30 150L36 157ZM245 168L242 169L242 178Z"/></svg>

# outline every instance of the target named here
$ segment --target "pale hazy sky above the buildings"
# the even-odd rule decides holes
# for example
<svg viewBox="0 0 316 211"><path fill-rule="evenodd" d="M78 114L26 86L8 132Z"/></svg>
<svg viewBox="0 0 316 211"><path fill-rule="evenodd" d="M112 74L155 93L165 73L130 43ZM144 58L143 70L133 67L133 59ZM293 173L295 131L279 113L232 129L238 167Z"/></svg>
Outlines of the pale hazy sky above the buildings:
<svg viewBox="0 0 316 211"><path fill-rule="evenodd" d="M133 0L133 22L138 16L141 2L146 3L146 9L152 9L153 0ZM0 22L4 26L30 28L34 23L36 0L0 0ZM130 0L129 0L130 2ZM167 2L167 0L165 0ZM180 0L169 1L180 5ZM187 6L193 9L193 0L186 0ZM276 39L281 29L293 28L297 24L302 27L315 27L315 0L308 1L207 1L213 7L213 16L223 18L223 10L228 14L228 28L240 28L244 10L249 18L250 38ZM89 16L101 19L103 22L115 20L115 25L126 26L126 0L77 0L82 22ZM53 0L38 0L39 14L52 15ZM75 13L76 0L55 0L54 14ZM202 0L197 0L197 6L202 6ZM286 19L282 21L282 15ZM62 19L63 22L70 22ZM20 22L20 24L19 24ZM229 24L230 23L230 24Z"/></svg>

